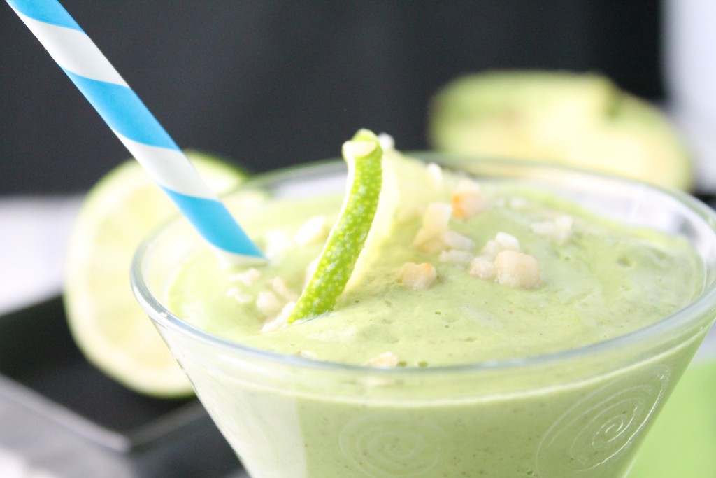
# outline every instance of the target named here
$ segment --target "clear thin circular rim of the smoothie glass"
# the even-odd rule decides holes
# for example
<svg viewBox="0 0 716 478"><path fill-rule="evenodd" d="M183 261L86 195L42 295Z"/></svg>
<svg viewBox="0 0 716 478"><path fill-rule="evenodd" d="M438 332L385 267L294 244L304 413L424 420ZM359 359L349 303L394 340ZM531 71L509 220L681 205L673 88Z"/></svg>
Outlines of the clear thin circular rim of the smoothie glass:
<svg viewBox="0 0 716 478"><path fill-rule="evenodd" d="M430 153L425 151L418 151L415 153L407 153L410 156L422 158L423 161L433 161L437 158L442 158L440 163L445 166L451 166L451 161L444 161L446 158L450 158L454 161L465 161L468 158L460 156L450 156L444 153ZM624 178L621 176L614 176L609 173L602 173L599 171L588 171L584 168L575 166L544 163L540 161L526 161L526 160L508 160L508 159L489 159L489 158L470 158L473 163L479 163L481 166L494 166L494 167L522 167L522 168L533 168L546 171L547 169L553 169L563 172L574 172L582 176L601 177L609 181L615 181L624 184L633 184L640 187L646 187L652 191L658 191L664 196L669 196L672 199L678 201L682 205L686 206L694 212L702 221L705 222L714 234L716 235L716 211L711 209L702 201L696 199L694 196L682 192L669 190L660 186L654 186L651 184L643 183L641 181L635 181L631 178ZM267 183L278 183L282 179L289 179L291 176L295 176L295 171L306 171L310 170L314 173L329 174L339 173L344 169L344 163L339 159L326 159L323 161L314 161L311 163L303 163L301 165L289 166L287 168L281 168L276 171L269 173L262 173L251 178L246 183L241 184L239 189L242 188L256 188L261 187L261 184ZM230 193L231 194L231 193ZM301 357L299 355L286 355L283 353L271 352L268 350L261 350L258 348L252 348L248 345L242 345L231 340L227 340L205 332L200 328L190 325L180 317L174 315L168 310L162 303L150 292L150 288L144 279L144 260L147 253L150 252L152 244L160 239L165 231L172 224L177 221L181 221L182 218L174 218L170 221L165 222L163 226L158 227L153 231L152 234L147 236L140 246L137 248L135 257L132 261L130 270L130 282L132 291L140 302L142 308L150 315L151 319L158 322L166 328L177 330L183 335L188 335L194 340L210 344L221 348L223 350L230 351L231 353L238 353L246 357L258 359L266 362L271 362L276 365L294 366L299 368L313 368L320 369L323 371L341 371L344 373L356 373L356 374L379 374L383 376L403 376L409 374L410 376L435 376L435 374L445 373L468 373L468 372L479 372L479 371L498 371L506 369L518 369L532 366L546 366L553 365L555 363L567 363L578 358L586 358L588 356L599 355L601 353L609 352L609 350L616 350L634 345L636 343L642 343L649 339L658 336L664 336L672 330L677 330L684 324L690 322L697 323L701 317L707 315L710 310L714 310L716 307L716 280L712 281L711 284L707 285L704 290L698 295L695 300L690 302L688 305L682 307L671 315L667 315L658 322L654 322L651 325L647 325L644 328L634 330L630 333L619 335L615 338L603 340L598 343L592 343L584 345L579 348L573 348L568 350L558 350L556 352L546 353L542 355L528 355L524 357L511 358L507 360L487 360L478 363L465 363L460 365L442 365L435 367L426 368L378 368L367 365L352 365L346 363L328 362L322 360L313 360L311 358Z"/></svg>

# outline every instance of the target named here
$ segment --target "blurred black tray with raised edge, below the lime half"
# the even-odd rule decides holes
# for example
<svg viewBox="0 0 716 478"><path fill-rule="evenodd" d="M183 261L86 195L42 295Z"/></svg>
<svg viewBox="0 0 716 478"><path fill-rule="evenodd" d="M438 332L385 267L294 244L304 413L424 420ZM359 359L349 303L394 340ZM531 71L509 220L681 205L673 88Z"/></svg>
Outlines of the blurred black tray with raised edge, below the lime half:
<svg viewBox="0 0 716 478"><path fill-rule="evenodd" d="M142 396L90 365L60 297L0 317L0 448L60 477L211 478L240 469L196 398Z"/></svg>

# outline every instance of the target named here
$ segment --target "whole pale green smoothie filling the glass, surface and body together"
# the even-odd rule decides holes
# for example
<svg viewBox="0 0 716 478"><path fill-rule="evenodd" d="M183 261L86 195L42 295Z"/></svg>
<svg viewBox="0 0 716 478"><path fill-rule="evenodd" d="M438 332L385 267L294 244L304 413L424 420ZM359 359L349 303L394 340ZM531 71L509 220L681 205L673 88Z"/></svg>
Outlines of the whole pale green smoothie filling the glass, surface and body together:
<svg viewBox="0 0 716 478"><path fill-rule="evenodd" d="M712 281L694 241L551 192L576 179L384 164L332 312L286 323L339 192L242 207L264 265L199 245L171 268L153 317L251 476L624 477L712 322L712 306L677 321Z"/></svg>

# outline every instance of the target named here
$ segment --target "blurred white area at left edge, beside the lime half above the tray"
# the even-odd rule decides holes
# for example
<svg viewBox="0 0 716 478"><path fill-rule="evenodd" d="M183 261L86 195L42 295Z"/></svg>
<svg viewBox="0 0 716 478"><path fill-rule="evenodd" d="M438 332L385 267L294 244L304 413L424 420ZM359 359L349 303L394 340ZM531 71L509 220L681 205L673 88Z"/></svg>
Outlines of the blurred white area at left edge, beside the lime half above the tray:
<svg viewBox="0 0 716 478"><path fill-rule="evenodd" d="M0 198L0 314L59 293L67 237L80 200Z"/></svg>

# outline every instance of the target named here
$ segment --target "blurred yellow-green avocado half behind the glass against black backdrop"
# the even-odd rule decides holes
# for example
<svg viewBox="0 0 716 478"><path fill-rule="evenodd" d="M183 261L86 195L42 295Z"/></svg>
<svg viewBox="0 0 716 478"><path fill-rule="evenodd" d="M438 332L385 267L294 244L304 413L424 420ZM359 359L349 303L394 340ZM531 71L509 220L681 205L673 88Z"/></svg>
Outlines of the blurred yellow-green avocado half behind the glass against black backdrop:
<svg viewBox="0 0 716 478"><path fill-rule="evenodd" d="M689 191L690 153L664 113L591 73L491 71L432 97L428 139L459 155L556 161Z"/></svg>

